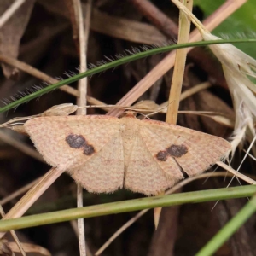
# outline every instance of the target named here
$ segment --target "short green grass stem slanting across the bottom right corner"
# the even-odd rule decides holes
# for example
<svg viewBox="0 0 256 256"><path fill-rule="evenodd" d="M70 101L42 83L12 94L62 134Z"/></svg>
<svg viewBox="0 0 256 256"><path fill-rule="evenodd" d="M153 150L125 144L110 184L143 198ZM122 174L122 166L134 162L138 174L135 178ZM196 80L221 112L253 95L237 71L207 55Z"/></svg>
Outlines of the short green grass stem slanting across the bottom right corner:
<svg viewBox="0 0 256 256"><path fill-rule="evenodd" d="M240 212L236 214L234 218L224 225L216 236L212 238L211 241L207 243L205 247L196 254L196 256L210 256L215 253L219 247L221 247L225 241L227 241L230 236L232 236L236 230L238 230L242 224L244 224L248 218L250 218L253 213L256 212L256 195L247 202L246 206L241 209Z"/></svg>

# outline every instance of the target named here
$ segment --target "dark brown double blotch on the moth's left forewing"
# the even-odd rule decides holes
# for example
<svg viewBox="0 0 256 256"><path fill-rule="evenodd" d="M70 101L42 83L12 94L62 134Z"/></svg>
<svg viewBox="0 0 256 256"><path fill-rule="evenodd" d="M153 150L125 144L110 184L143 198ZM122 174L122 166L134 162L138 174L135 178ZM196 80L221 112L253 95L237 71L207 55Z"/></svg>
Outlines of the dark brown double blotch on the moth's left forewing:
<svg viewBox="0 0 256 256"><path fill-rule="evenodd" d="M83 153L86 155L95 153L93 146L88 144L82 135L69 134L66 137L66 142L70 148L83 148Z"/></svg>

